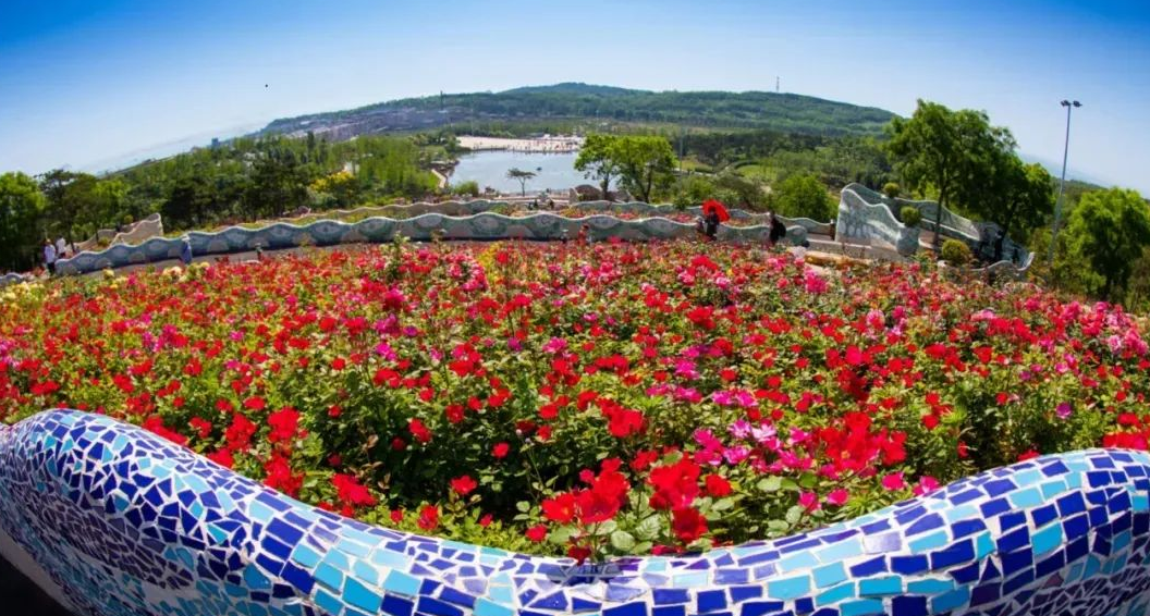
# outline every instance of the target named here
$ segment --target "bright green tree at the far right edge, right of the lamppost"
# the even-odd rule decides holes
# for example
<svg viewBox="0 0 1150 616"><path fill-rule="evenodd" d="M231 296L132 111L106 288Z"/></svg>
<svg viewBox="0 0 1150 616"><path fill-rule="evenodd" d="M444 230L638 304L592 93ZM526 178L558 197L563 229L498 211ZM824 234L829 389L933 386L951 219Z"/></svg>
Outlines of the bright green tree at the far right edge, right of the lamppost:
<svg viewBox="0 0 1150 616"><path fill-rule="evenodd" d="M1102 278L1101 291L1121 300L1135 261L1150 246L1150 206L1137 192L1110 188L1082 197L1066 233L1073 255Z"/></svg>

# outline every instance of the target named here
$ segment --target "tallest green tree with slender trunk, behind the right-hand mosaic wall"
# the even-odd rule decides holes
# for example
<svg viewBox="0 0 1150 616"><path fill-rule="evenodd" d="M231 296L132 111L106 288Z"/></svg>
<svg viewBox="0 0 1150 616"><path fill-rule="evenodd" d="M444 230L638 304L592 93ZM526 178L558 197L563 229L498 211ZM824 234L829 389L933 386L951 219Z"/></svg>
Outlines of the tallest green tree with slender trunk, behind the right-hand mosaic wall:
<svg viewBox="0 0 1150 616"><path fill-rule="evenodd" d="M936 231L942 224L942 208L975 205L986 194L995 165L1015 146L1010 131L991 126L986 113L953 111L923 100L919 100L910 120L891 120L887 132L887 153L903 186L937 192ZM936 248L940 234L935 233Z"/></svg>

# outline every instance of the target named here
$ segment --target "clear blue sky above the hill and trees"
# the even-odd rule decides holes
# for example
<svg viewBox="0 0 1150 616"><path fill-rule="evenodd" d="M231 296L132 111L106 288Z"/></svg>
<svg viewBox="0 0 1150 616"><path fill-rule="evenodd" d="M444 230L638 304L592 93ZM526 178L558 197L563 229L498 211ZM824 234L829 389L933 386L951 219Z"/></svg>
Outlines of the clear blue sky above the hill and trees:
<svg viewBox="0 0 1150 616"><path fill-rule="evenodd" d="M1150 194L1150 3L0 0L0 170L99 169L288 115L558 82L977 108ZM267 84L268 87L264 87ZM160 148L162 149L162 148Z"/></svg>

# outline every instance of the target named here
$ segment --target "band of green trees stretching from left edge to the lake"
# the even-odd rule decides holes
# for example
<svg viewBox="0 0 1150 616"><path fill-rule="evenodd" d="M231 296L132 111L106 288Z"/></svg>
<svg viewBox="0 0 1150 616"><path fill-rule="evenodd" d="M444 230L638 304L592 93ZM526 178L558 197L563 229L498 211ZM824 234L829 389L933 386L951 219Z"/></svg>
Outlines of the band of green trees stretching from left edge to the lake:
<svg viewBox="0 0 1150 616"><path fill-rule="evenodd" d="M153 213L166 231L345 208L434 193L430 159L446 137L362 137L331 144L308 134L241 138L97 177L55 169L0 175L0 268L29 269L45 239L83 241ZM429 147L430 146L430 147Z"/></svg>

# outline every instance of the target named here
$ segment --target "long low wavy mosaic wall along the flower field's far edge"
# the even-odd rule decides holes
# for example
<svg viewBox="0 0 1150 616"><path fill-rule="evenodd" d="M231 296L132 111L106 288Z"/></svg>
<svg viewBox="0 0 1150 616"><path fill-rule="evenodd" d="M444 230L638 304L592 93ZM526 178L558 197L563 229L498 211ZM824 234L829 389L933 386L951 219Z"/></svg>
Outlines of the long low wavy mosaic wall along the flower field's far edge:
<svg viewBox="0 0 1150 616"><path fill-rule="evenodd" d="M445 216L423 214L413 218L366 218L355 223L340 221L316 221L306 225L274 223L259 229L231 226L223 231L187 233L193 255L230 254L263 248L291 248L297 246L334 246L337 244L383 242L397 234L415 240L431 239L442 232L446 239L574 239L582 225L586 224L593 240L610 238L626 240L662 240L695 237L693 224L677 223L667 218L643 218L623 221L614 216L593 215L584 218L567 218L558 214L538 213L530 216L511 217L501 214L483 213L471 216ZM719 239L735 241L766 241L769 230L766 225L722 226ZM803 226L787 230L788 238L802 244L807 236ZM105 268L120 268L135 263L150 263L167 259L178 259L181 239L153 238L139 246L113 246L99 253L80 253L61 260L56 269L61 274L84 274Z"/></svg>

